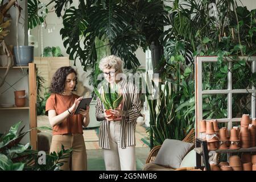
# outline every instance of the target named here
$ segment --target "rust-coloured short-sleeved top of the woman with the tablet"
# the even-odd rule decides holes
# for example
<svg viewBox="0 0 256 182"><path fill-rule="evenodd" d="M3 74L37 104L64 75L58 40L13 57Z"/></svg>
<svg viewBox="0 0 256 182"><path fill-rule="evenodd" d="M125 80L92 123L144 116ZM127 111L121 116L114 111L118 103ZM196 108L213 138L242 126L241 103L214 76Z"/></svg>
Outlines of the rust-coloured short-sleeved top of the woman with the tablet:
<svg viewBox="0 0 256 182"><path fill-rule="evenodd" d="M57 115L63 113L73 105L76 98L79 98L76 94L72 94L72 96L63 96L56 93L52 94L46 101L46 114L49 110L55 110ZM68 118L64 119L59 125L53 126L52 134L82 133L82 120L83 117L81 114L69 115Z"/></svg>

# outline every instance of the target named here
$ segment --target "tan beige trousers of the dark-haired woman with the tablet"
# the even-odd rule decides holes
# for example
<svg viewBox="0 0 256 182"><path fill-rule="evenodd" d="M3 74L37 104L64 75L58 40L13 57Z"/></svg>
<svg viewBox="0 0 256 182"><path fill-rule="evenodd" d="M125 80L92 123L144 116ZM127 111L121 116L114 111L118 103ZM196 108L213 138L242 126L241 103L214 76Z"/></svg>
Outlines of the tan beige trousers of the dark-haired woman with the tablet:
<svg viewBox="0 0 256 182"><path fill-rule="evenodd" d="M71 158L60 160L65 161L64 165L60 167L61 170L86 171L87 155L82 134L53 135L50 153L53 151L56 153L59 152L61 150L61 144L63 144L65 149L73 149Z"/></svg>

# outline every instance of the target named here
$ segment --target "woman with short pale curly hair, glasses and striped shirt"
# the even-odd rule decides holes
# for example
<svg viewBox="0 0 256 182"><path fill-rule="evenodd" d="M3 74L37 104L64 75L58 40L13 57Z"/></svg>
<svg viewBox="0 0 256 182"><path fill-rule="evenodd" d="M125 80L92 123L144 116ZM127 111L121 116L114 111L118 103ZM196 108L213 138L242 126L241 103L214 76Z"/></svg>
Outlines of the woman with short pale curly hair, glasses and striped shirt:
<svg viewBox="0 0 256 182"><path fill-rule="evenodd" d="M138 88L127 82L122 73L123 62L120 57L111 55L104 57L99 68L105 80L110 84L117 84L118 92L123 100L118 109L111 109L115 119L110 119L100 98L97 97L96 118L101 122L99 143L103 149L106 170L136 170L135 161L135 127L141 113L141 101ZM100 93L102 92L102 86Z"/></svg>

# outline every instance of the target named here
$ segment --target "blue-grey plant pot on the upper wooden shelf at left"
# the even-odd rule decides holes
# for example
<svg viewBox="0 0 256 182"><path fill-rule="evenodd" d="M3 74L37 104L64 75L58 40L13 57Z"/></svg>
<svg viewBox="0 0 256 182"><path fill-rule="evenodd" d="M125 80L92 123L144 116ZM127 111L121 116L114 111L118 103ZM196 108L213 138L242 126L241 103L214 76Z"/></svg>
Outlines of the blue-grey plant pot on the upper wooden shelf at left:
<svg viewBox="0 0 256 182"><path fill-rule="evenodd" d="M34 46L14 46L14 55L17 66L27 66L34 60Z"/></svg>

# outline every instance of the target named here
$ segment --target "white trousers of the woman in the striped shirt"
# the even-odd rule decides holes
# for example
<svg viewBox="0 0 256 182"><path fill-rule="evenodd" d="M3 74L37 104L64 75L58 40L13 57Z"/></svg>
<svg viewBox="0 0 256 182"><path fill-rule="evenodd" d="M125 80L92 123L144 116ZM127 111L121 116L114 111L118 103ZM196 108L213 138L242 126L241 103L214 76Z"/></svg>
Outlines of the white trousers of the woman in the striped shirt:
<svg viewBox="0 0 256 182"><path fill-rule="evenodd" d="M119 147L120 122L110 121L109 124L110 149L103 149L106 171L136 171L135 146Z"/></svg>

